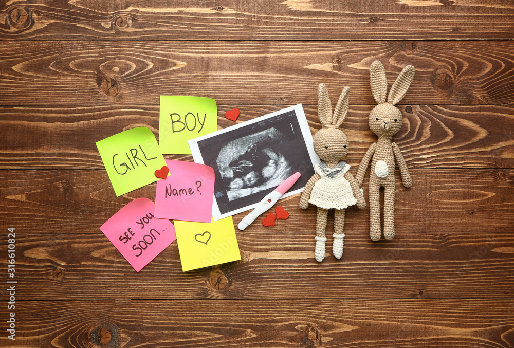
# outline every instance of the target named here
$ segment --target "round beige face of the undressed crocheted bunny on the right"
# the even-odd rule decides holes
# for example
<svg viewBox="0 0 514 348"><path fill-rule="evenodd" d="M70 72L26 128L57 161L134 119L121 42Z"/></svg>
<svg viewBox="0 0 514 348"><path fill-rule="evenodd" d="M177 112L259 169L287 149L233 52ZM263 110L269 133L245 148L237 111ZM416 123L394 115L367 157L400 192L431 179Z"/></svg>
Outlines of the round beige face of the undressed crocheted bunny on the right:
<svg viewBox="0 0 514 348"><path fill-rule="evenodd" d="M394 105L383 103L375 106L370 113L370 129L379 137L392 137L401 128L403 116Z"/></svg>

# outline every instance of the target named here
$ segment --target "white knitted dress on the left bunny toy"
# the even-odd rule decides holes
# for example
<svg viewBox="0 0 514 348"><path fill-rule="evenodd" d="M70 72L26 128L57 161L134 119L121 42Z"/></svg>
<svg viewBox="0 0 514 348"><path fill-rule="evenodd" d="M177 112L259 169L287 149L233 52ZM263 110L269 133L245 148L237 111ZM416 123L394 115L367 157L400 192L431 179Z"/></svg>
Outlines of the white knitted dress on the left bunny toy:
<svg viewBox="0 0 514 348"><path fill-rule="evenodd" d="M350 182L344 178L350 164L340 161L331 169L321 161L315 164L314 169L321 178L315 182L310 192L310 204L323 209L346 209L357 203Z"/></svg>

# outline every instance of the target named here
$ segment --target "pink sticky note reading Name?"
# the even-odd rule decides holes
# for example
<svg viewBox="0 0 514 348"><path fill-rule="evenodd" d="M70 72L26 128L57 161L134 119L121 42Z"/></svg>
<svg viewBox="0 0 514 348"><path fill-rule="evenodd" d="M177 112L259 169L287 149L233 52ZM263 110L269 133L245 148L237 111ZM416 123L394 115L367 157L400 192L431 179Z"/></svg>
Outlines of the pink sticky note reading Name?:
<svg viewBox="0 0 514 348"><path fill-rule="evenodd" d="M157 180L155 217L210 223L214 170L205 164L166 160L170 175Z"/></svg>

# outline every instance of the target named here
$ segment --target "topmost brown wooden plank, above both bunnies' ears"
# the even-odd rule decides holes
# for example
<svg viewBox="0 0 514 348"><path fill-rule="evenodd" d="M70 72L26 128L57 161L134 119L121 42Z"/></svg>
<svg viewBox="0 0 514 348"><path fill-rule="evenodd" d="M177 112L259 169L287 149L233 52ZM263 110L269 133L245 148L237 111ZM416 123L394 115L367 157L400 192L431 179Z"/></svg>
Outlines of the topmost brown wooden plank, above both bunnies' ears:
<svg viewBox="0 0 514 348"><path fill-rule="evenodd" d="M512 39L508 1L3 2L10 40Z"/></svg>

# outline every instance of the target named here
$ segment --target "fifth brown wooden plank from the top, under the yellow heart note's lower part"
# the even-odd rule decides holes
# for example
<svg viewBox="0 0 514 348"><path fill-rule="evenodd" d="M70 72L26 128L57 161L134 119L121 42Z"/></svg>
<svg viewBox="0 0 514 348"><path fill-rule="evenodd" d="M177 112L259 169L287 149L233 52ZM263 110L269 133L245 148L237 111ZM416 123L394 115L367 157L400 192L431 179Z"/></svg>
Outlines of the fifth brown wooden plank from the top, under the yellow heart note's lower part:
<svg viewBox="0 0 514 348"><path fill-rule="evenodd" d="M337 260L332 256L329 226L328 254L318 263L314 224L293 228L289 220L280 221L277 229L261 226L255 227L258 232L237 232L241 261L182 272L175 242L139 273L100 230L84 234L71 226L44 233L36 227L12 225L16 226L16 272L9 280L18 282L21 299L45 301L117 299L120 291L123 298L148 300L505 299L514 295L511 232L449 233L433 228L423 233L398 223L393 240L377 243L369 233L347 228L343 257ZM6 249L4 244L1 251L7 254ZM127 286L121 290L120 284Z"/></svg>

